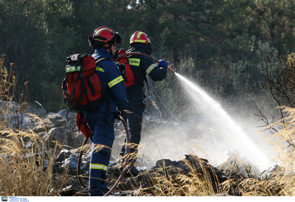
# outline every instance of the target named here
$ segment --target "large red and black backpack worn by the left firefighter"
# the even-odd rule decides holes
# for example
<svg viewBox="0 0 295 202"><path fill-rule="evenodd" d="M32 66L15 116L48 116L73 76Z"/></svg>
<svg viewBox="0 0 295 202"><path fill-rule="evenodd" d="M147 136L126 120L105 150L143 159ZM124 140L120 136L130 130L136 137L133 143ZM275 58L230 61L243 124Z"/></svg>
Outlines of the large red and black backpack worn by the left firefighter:
<svg viewBox="0 0 295 202"><path fill-rule="evenodd" d="M99 76L94 72L96 63L91 55L74 54L65 60L65 79L62 83L65 104L71 112L94 110L108 100L107 92L101 91Z"/></svg>

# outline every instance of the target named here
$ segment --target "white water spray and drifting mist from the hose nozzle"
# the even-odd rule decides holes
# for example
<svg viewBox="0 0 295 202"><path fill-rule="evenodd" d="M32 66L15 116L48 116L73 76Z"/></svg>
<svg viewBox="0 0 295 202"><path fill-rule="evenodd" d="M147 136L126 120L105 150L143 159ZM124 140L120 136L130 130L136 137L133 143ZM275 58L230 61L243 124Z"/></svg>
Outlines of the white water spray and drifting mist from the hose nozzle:
<svg viewBox="0 0 295 202"><path fill-rule="evenodd" d="M165 127L145 129L143 126L139 149L142 161L154 164L161 158L181 160L184 154L195 154L214 164L227 150L240 150L243 158L262 166L259 170L265 169L271 148L257 135L261 128L257 128L260 123L254 115L253 100L249 100L250 106L237 100L222 107L196 84L177 73L176 76L181 82L183 99L190 103L182 106L184 121L181 124L170 121Z"/></svg>

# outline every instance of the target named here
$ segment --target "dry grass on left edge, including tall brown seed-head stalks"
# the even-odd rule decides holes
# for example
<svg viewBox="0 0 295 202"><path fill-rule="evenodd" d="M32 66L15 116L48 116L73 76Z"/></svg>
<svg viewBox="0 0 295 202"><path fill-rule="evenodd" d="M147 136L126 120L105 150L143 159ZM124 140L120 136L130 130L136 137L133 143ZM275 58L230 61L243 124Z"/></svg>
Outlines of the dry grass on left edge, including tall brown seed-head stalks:
<svg viewBox="0 0 295 202"><path fill-rule="evenodd" d="M4 58L5 55L0 55L0 193L2 196L56 196L67 178L65 170L54 180L55 159L61 147L57 143L49 150L37 133L22 128L28 94L20 95L20 102L12 112L17 79L12 71L14 64L10 64L8 71L3 65ZM27 89L27 82L24 85Z"/></svg>

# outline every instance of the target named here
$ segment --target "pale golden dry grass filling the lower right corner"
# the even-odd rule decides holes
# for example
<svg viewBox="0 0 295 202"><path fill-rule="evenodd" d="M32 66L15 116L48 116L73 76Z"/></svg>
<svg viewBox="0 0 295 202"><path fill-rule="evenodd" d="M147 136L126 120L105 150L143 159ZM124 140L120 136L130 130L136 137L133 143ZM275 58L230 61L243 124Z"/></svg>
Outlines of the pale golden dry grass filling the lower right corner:
<svg viewBox="0 0 295 202"><path fill-rule="evenodd" d="M249 180L247 186L252 192L248 192L248 195L295 196L295 108L286 106L280 108L287 115L269 125L271 128L280 129L264 137L274 148L273 162L280 167L268 179L263 179L261 182Z"/></svg>

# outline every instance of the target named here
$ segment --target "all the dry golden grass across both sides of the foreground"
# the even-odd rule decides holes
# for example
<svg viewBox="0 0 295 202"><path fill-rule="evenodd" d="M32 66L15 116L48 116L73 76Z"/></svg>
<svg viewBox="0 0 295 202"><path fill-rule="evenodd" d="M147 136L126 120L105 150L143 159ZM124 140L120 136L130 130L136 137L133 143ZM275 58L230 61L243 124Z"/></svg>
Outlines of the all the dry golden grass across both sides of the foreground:
<svg viewBox="0 0 295 202"><path fill-rule="evenodd" d="M59 180L53 180L53 168L60 145L47 149L47 144L32 130L24 130L22 124L12 124L7 117L10 113L9 105L14 99L13 90L16 85L16 77L12 70L7 71L3 66L1 57L1 80L0 80L0 192L6 196L57 196L67 175L64 173ZM11 65L11 67L13 64ZM11 68L12 69L12 68ZM25 112L27 95L22 95L22 101L15 112L14 117ZM210 167L202 159L194 158L184 160L186 173L172 173L170 165L165 161L158 168L149 172L148 188L143 188L138 182L131 186L136 196L212 196L216 193L237 193L243 196L295 196L295 109L283 107L289 116L274 123L271 126L280 125L282 128L271 135L267 142L271 143L276 157L273 159L279 167L276 172L267 179L255 177L246 162L239 162L238 166L244 165L248 170L247 176L237 175L226 181L218 181L217 173L212 172ZM22 114L21 116L22 117ZM31 115L32 119L38 118ZM40 118L39 118L40 119ZM20 127L18 127L20 126ZM135 145L130 144L130 147ZM100 150L101 145L96 145ZM89 151L90 145L83 147ZM135 154L128 157L133 158ZM143 158L144 154L142 154ZM127 158L127 156L125 157ZM229 164L226 170L239 173L237 163Z"/></svg>

